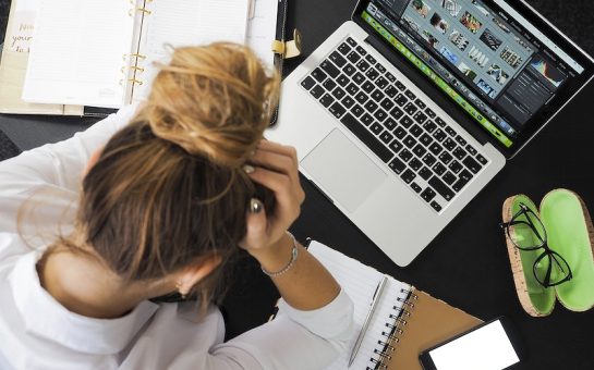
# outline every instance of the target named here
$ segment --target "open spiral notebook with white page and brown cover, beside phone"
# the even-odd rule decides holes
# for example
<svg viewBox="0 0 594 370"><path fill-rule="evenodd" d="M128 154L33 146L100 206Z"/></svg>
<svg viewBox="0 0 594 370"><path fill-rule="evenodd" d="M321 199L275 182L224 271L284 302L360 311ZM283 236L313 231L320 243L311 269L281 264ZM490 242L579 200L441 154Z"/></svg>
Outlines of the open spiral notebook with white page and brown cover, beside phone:
<svg viewBox="0 0 594 370"><path fill-rule="evenodd" d="M475 317L388 276L354 362L349 367L351 349L384 274L318 242L311 242L307 249L354 301L355 332L349 350L328 370L421 370L422 350L481 323Z"/></svg>

